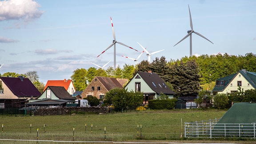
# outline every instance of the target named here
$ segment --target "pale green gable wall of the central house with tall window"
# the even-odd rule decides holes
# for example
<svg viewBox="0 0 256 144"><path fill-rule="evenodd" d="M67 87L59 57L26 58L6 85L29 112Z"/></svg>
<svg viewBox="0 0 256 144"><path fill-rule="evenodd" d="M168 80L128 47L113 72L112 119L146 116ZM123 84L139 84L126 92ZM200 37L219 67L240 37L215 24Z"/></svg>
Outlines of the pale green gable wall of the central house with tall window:
<svg viewBox="0 0 256 144"><path fill-rule="evenodd" d="M139 74L136 74L136 76ZM135 77L125 86L125 88L128 89L128 91L135 91L135 83L140 82L140 92L144 93L155 93L149 86L148 84L140 77L140 79L135 79ZM155 98L157 97L157 94L155 95Z"/></svg>

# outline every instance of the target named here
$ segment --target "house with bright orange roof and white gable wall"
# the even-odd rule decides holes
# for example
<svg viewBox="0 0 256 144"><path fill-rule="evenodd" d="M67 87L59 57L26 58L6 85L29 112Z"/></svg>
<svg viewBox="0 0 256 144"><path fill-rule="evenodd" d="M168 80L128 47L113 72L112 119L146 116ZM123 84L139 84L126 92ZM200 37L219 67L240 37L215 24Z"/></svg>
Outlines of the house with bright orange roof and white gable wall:
<svg viewBox="0 0 256 144"><path fill-rule="evenodd" d="M66 80L66 79L64 79L64 80L48 80L45 87L44 87L44 90L48 86L64 87L70 95L73 95L73 93L76 92L76 88L75 88L72 80Z"/></svg>

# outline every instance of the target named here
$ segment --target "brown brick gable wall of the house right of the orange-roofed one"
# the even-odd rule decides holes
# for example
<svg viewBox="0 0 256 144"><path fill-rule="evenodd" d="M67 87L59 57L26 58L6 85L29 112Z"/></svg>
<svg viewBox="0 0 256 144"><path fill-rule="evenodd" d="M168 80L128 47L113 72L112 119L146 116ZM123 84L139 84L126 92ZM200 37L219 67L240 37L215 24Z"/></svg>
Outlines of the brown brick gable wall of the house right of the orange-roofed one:
<svg viewBox="0 0 256 144"><path fill-rule="evenodd" d="M94 90L92 90L92 87L94 87ZM100 90L97 90L97 87L100 87ZM84 92L82 92L81 96L82 99L86 98L87 96L96 96L98 99L100 99L100 95L105 95L106 92L108 92L108 90L95 77L85 88Z"/></svg>

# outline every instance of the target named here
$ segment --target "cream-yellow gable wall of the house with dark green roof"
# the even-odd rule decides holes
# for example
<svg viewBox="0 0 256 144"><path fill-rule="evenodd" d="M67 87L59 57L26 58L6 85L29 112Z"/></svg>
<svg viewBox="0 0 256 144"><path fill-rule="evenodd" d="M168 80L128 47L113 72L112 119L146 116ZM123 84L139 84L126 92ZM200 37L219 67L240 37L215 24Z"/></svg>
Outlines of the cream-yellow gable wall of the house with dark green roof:
<svg viewBox="0 0 256 144"><path fill-rule="evenodd" d="M240 75L240 76L239 76ZM240 87L241 90L244 89L244 91L249 89L255 89L252 87L252 85L244 78L244 76L239 72L234 79L228 84L228 86L224 89L223 92L218 93L231 93L232 91L238 91L237 81L242 82L242 86ZM248 85L249 84L249 85Z"/></svg>

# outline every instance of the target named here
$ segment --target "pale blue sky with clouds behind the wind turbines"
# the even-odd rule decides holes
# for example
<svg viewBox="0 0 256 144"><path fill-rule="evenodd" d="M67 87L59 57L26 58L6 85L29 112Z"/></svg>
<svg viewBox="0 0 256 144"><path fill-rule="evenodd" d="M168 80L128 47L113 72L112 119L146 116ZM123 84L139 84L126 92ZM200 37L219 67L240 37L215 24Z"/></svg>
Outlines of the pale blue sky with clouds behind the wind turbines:
<svg viewBox="0 0 256 144"><path fill-rule="evenodd" d="M190 28L192 54L256 54L255 0L1 0L0 73L36 71L39 80L70 79L77 68L132 64L143 48L167 61L189 56L189 37L175 47ZM100 55L99 57L97 57ZM146 52L138 62L148 60ZM3 65L4 64L4 65Z"/></svg>

